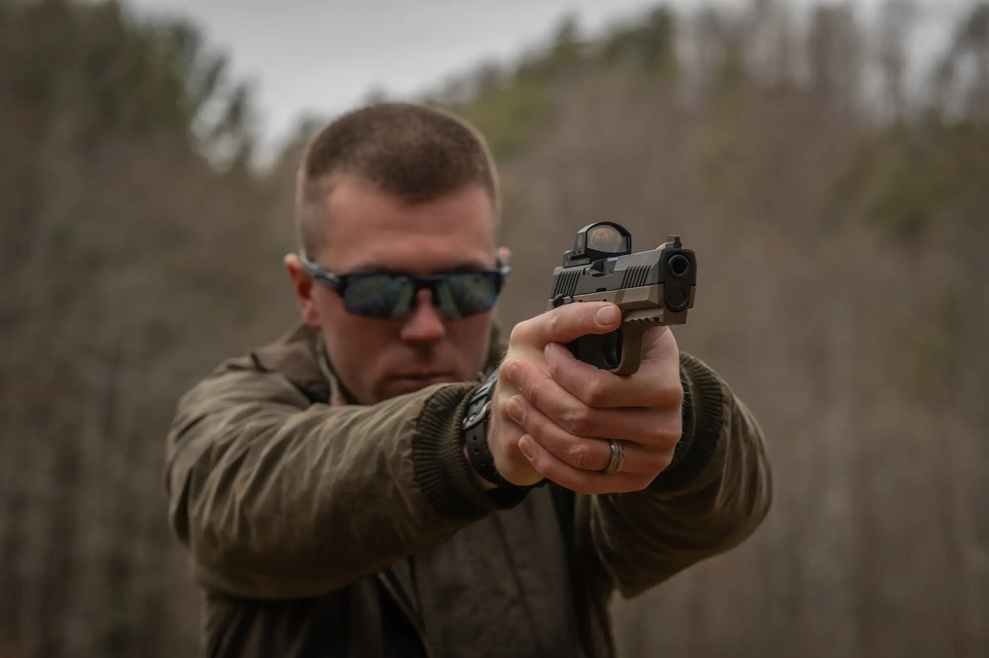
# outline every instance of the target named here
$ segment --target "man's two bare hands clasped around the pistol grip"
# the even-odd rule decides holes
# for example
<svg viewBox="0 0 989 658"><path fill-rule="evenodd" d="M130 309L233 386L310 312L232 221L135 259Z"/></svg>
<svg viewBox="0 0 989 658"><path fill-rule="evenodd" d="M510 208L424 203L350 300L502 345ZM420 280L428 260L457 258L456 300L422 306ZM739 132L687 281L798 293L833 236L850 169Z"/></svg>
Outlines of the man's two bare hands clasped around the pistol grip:
<svg viewBox="0 0 989 658"><path fill-rule="evenodd" d="M651 329L642 365L630 376L600 370L563 345L618 329L609 303L568 304L511 332L494 391L488 441L498 472L517 485L543 477L578 493L645 489L673 459L683 390L673 332ZM611 447L624 441L620 472L604 475Z"/></svg>

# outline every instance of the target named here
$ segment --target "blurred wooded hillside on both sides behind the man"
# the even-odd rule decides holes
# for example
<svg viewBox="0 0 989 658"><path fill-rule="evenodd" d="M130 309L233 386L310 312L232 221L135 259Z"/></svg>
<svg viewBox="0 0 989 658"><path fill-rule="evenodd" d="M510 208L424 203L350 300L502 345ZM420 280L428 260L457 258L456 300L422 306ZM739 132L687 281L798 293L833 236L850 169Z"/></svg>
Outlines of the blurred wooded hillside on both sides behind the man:
<svg viewBox="0 0 989 658"><path fill-rule="evenodd" d="M923 61L908 2L660 5L420 100L488 137L539 313L576 229L682 235L677 330L764 425L775 505L617 602L621 655L989 654L989 5ZM195 26L0 0L0 657L197 651L165 525L177 398L296 313L294 168Z"/></svg>

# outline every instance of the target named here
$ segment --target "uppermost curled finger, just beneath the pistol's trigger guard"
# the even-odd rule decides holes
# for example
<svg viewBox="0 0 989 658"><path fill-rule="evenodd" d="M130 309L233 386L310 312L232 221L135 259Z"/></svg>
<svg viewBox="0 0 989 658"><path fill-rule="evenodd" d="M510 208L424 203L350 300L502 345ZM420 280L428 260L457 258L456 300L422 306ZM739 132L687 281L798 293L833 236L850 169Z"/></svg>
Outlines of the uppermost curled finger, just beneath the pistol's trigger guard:
<svg viewBox="0 0 989 658"><path fill-rule="evenodd" d="M678 359L649 359L635 374L620 376L584 363L555 342L544 351L553 381L588 407L679 407L683 400Z"/></svg>

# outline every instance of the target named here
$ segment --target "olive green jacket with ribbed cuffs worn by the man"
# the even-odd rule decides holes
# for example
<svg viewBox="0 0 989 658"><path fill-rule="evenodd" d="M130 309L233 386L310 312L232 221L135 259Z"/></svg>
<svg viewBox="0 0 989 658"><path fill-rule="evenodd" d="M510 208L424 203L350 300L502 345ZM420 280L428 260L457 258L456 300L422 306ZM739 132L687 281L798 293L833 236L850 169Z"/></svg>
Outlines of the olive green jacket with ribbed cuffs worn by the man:
<svg viewBox="0 0 989 658"><path fill-rule="evenodd" d="M479 382L347 404L307 328L226 361L167 445L205 655L612 656L612 591L728 550L769 507L755 419L701 361L680 372L683 436L648 489L495 500L461 449Z"/></svg>

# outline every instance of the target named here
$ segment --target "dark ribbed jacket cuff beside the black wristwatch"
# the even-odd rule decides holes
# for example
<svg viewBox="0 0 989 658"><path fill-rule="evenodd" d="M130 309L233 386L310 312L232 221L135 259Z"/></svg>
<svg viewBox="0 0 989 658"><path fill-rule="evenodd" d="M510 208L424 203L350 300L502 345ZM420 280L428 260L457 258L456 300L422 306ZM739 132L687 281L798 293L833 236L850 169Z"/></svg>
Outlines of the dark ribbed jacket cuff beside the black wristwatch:
<svg viewBox="0 0 989 658"><path fill-rule="evenodd" d="M461 427L471 395L480 384L438 388L422 406L412 438L415 480L426 502L451 520L476 520L498 509L513 508L521 494L491 495L478 484L467 458Z"/></svg>

